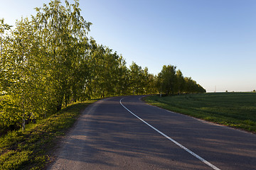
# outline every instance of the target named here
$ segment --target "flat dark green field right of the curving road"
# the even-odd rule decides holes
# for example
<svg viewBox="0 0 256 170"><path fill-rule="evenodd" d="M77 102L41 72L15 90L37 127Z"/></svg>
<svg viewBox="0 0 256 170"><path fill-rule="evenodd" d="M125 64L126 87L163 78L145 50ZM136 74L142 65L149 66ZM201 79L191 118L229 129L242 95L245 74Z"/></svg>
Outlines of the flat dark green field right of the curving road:
<svg viewBox="0 0 256 170"><path fill-rule="evenodd" d="M176 113L256 132L256 93L147 96L144 101Z"/></svg>

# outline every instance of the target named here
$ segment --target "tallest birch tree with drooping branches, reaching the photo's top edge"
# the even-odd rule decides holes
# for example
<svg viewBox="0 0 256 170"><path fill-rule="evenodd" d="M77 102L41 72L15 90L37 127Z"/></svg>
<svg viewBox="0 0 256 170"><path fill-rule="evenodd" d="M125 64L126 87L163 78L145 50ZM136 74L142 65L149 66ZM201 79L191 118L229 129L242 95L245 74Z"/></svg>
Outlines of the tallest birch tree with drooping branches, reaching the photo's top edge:
<svg viewBox="0 0 256 170"><path fill-rule="evenodd" d="M78 1L65 6L58 0L50 1L49 6L36 8L38 33L43 38L44 51L48 61L51 77L51 89L59 111L63 103L70 102L70 97L77 99L75 80L79 78L77 68L85 60L87 32L91 23L80 16Z"/></svg>

